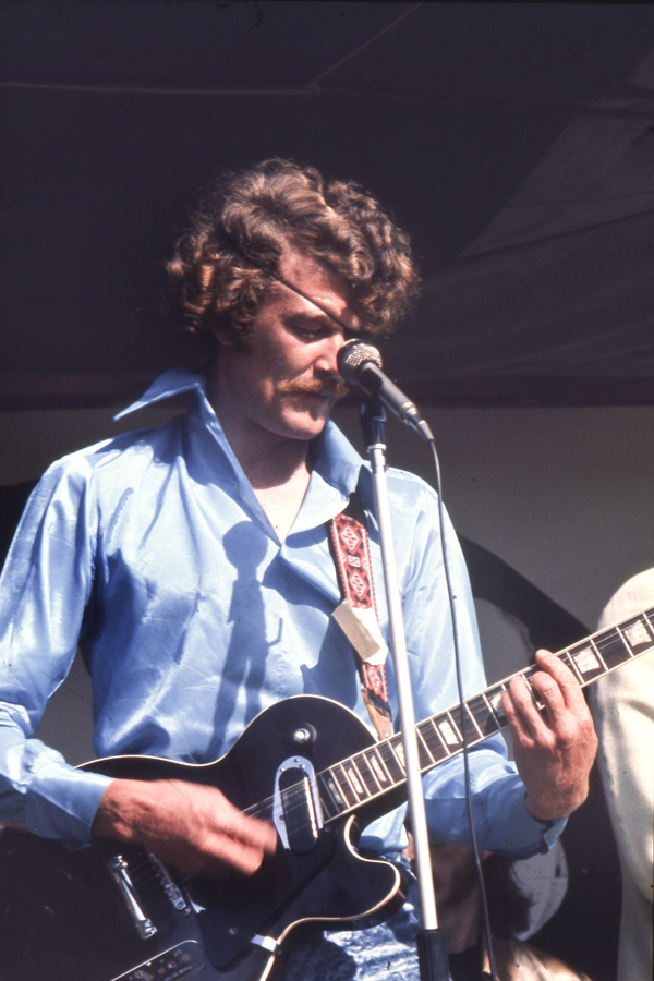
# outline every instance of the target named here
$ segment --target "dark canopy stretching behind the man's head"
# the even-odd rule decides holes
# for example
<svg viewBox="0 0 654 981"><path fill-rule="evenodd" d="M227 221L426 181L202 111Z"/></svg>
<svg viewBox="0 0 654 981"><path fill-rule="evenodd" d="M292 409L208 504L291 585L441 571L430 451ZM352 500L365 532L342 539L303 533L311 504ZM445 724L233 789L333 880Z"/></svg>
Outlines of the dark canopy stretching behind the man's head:
<svg viewBox="0 0 654 981"><path fill-rule="evenodd" d="M223 168L355 178L424 277L387 367L440 404L654 402L651 4L0 8L0 408L168 365L162 263Z"/></svg>

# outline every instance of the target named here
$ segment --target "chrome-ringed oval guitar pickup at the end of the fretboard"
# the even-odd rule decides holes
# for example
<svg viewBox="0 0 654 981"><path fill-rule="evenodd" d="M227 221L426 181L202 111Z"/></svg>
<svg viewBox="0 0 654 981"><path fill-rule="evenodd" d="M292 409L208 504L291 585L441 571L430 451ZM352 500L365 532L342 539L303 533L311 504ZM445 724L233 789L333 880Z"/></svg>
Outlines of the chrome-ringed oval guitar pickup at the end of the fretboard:
<svg viewBox="0 0 654 981"><path fill-rule="evenodd" d="M277 768L272 823L291 851L311 851L318 840L323 811L313 764L304 756L290 756Z"/></svg>

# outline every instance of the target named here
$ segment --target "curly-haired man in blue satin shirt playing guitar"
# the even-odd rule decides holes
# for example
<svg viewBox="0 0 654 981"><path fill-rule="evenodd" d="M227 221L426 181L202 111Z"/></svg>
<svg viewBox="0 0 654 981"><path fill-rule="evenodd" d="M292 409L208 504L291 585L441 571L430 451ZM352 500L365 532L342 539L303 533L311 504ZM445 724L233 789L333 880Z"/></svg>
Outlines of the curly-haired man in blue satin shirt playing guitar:
<svg viewBox="0 0 654 981"><path fill-rule="evenodd" d="M202 374L171 372L141 404L194 392L185 417L55 464L8 559L0 613L0 818L72 845L137 843L182 873L254 872L269 825L220 791L182 780L109 780L73 771L31 737L77 641L94 682L99 755L186 762L222 755L263 708L300 693L367 714L339 603L326 523L356 492L387 631L370 471L328 421L337 354L388 332L416 276L409 241L351 183L272 160L227 178L169 264L182 339ZM189 353L189 352L187 352ZM416 713L457 701L435 495L390 473ZM465 570L446 542L467 694L484 688ZM505 711L520 777L500 741L471 753L480 844L546 849L585 797L595 737L580 689L552 655ZM392 670L390 704L396 711ZM467 843L458 759L425 780L435 839ZM405 845L403 811L367 828L379 852Z"/></svg>

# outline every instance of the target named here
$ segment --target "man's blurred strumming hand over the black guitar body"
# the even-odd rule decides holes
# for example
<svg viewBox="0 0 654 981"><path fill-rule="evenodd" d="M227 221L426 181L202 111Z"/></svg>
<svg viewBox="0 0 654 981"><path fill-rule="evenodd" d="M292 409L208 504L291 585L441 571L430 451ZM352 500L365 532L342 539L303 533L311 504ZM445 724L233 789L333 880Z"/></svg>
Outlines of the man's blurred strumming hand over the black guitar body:
<svg viewBox="0 0 654 981"><path fill-rule="evenodd" d="M249 818L216 787L184 780L113 780L93 834L142 845L184 875L252 875L277 846L270 824Z"/></svg>

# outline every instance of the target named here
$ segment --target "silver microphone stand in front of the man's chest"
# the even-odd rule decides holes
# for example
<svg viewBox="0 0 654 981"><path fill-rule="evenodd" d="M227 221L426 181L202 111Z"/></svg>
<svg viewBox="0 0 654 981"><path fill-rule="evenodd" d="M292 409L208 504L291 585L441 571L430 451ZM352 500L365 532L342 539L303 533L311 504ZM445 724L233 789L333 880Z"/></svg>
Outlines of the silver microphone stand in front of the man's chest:
<svg viewBox="0 0 654 981"><path fill-rule="evenodd" d="M427 837L427 820L422 788L420 756L417 753L417 736L415 731L415 712L411 692L411 676L407 656L404 635L404 617L402 598L398 580L398 570L392 538L390 500L386 477L386 412L378 399L363 402L361 405L361 424L363 438L373 469L373 486L375 505L379 524L379 545L384 566L384 584L388 606L390 629L390 650L395 666L396 686L402 746L404 748L404 768L407 772L407 796L411 814L411 831L415 849L415 874L423 929L416 937L417 961L421 981L449 981L449 966L445 947L445 934L438 929L434 880L429 860L429 840Z"/></svg>

